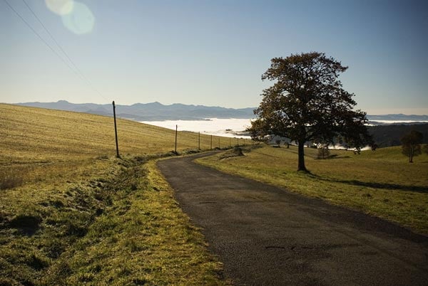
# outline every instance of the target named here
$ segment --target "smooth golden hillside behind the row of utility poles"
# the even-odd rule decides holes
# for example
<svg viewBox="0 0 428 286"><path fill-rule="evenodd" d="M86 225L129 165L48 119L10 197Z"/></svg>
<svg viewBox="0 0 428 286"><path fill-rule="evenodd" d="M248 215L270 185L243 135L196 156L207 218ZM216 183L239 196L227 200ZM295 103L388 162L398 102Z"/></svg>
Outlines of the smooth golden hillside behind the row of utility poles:
<svg viewBox="0 0 428 286"><path fill-rule="evenodd" d="M1 161L73 160L116 154L113 118L0 104ZM229 139L220 138L221 146ZM174 149L170 129L118 119L121 154L163 153ZM210 148L210 136L200 135L201 149ZM198 148L198 134L178 133L178 150Z"/></svg>

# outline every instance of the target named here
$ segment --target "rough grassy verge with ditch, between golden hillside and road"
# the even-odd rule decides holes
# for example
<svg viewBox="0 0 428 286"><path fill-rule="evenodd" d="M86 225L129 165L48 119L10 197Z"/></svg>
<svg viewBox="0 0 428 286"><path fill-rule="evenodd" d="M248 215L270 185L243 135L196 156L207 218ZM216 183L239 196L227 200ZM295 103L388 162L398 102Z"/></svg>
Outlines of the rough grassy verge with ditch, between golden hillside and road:
<svg viewBox="0 0 428 286"><path fill-rule="evenodd" d="M154 161L97 159L77 173L64 189L2 191L1 285L223 284Z"/></svg>

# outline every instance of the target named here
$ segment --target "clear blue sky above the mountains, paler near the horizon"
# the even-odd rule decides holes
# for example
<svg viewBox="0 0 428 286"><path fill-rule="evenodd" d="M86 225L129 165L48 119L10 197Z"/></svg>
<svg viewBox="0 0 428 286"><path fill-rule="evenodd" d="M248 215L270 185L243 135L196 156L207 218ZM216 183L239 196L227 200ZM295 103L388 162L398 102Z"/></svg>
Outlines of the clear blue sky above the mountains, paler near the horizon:
<svg viewBox="0 0 428 286"><path fill-rule="evenodd" d="M318 51L357 109L428 114L424 0L0 0L0 35L0 102L257 107L270 59Z"/></svg>

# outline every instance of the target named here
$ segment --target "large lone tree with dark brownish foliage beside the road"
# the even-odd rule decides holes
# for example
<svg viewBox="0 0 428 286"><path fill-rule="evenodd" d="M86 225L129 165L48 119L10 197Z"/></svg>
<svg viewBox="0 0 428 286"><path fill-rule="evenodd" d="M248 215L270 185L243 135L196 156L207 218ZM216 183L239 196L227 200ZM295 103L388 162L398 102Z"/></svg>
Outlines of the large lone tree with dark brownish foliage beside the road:
<svg viewBox="0 0 428 286"><path fill-rule="evenodd" d="M347 70L324 53L301 53L272 58L262 80L276 80L263 90L263 100L254 111L258 118L248 128L253 139L266 134L288 137L298 144L298 171L305 166L305 142L333 142L342 135L348 145L360 149L370 144L366 113L352 110L353 94L337 80Z"/></svg>

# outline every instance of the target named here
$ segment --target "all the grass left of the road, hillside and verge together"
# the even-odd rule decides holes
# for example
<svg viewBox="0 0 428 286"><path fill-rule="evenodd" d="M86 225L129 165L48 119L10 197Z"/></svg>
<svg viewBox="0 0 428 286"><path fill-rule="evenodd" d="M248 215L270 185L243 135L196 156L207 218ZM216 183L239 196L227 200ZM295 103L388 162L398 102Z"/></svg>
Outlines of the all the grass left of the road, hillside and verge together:
<svg viewBox="0 0 428 286"><path fill-rule="evenodd" d="M225 283L147 161L174 132L118 120L118 138L122 159L110 117L0 104L0 285ZM179 152L197 148L179 132Z"/></svg>

